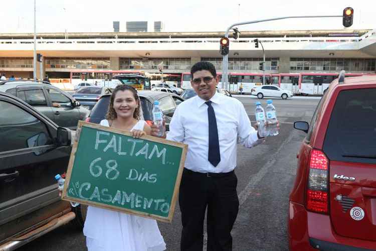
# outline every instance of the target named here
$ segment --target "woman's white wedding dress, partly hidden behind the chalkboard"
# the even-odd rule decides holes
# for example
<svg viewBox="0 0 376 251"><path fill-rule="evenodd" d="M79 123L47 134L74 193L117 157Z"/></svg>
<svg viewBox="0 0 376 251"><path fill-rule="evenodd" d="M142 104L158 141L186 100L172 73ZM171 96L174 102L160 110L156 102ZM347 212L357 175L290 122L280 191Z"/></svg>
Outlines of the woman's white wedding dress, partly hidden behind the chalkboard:
<svg viewBox="0 0 376 251"><path fill-rule="evenodd" d="M106 119L101 126L109 126ZM143 130L139 120L133 130ZM89 206L84 226L89 251L161 251L166 249L156 220Z"/></svg>

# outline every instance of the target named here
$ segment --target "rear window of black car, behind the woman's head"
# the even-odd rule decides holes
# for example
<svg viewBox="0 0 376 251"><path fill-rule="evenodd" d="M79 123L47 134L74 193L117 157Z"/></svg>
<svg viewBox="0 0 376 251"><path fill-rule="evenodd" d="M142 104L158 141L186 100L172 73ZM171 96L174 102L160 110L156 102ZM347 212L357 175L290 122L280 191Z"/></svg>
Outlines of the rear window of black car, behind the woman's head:
<svg viewBox="0 0 376 251"><path fill-rule="evenodd" d="M152 120L153 104L144 97L140 97L144 120ZM110 96L101 97L91 110L90 117L104 119L110 103Z"/></svg>

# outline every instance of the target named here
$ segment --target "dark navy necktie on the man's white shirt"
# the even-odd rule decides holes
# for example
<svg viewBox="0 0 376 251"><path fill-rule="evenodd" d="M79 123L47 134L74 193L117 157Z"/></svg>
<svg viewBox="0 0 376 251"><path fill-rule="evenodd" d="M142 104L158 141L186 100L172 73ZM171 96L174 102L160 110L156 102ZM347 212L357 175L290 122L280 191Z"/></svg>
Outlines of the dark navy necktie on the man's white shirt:
<svg viewBox="0 0 376 251"><path fill-rule="evenodd" d="M212 106L212 101L205 102L208 105L208 120L209 120L209 153L208 160L213 166L217 166L221 162L221 155L219 151L219 139L216 114Z"/></svg>

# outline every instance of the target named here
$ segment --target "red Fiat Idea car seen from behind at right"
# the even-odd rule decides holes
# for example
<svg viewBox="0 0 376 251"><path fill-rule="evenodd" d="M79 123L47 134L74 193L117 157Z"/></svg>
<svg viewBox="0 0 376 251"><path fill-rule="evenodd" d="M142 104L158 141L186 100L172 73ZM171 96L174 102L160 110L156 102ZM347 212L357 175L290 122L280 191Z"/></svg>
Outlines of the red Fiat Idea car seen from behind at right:
<svg viewBox="0 0 376 251"><path fill-rule="evenodd" d="M297 155L290 250L376 249L376 77L341 72L325 91Z"/></svg>

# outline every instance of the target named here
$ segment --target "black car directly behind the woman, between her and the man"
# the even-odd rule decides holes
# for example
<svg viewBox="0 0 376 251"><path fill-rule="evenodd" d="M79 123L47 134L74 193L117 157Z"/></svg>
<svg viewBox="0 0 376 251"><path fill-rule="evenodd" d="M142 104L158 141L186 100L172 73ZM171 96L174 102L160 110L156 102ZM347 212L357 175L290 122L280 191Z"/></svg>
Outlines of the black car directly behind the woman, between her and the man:
<svg viewBox="0 0 376 251"><path fill-rule="evenodd" d="M153 120L152 112L154 101L159 100L159 108L163 111L166 119L166 130L168 131L168 125L176 106L184 100L176 94L161 91L138 91L138 95L141 101L143 119L149 125ZM110 96L110 94L105 94L99 98L98 102L91 110L89 117L86 119L87 122L100 123L100 121L105 118L110 103Z"/></svg>

